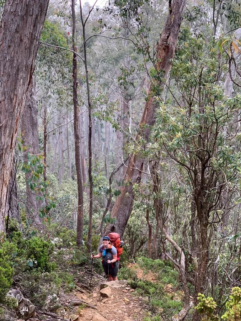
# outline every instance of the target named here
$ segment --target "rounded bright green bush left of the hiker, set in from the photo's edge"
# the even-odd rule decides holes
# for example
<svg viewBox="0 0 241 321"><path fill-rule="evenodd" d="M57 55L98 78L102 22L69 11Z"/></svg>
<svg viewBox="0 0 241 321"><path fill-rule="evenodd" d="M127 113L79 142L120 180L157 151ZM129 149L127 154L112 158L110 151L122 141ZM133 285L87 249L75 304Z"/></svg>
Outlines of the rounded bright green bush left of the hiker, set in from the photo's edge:
<svg viewBox="0 0 241 321"><path fill-rule="evenodd" d="M33 237L26 243L26 257L28 264L33 268L40 268L49 272L55 268L55 263L50 263L54 245L50 241L44 241L38 237Z"/></svg>

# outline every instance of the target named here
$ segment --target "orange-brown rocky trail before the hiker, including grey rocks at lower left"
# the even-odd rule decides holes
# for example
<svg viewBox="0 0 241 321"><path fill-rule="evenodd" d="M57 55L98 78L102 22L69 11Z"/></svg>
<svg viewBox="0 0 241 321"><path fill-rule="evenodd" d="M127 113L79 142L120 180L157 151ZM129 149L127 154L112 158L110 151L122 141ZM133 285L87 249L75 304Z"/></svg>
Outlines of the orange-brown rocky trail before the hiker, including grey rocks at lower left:
<svg viewBox="0 0 241 321"><path fill-rule="evenodd" d="M127 281L106 282L96 274L93 283L90 292L87 285L76 282L71 293L62 291L58 296L48 297L42 309L36 309L19 290L11 289L8 295L18 300L18 307L15 311L5 311L5 317L0 320L141 321L147 315L147 298L139 296Z"/></svg>

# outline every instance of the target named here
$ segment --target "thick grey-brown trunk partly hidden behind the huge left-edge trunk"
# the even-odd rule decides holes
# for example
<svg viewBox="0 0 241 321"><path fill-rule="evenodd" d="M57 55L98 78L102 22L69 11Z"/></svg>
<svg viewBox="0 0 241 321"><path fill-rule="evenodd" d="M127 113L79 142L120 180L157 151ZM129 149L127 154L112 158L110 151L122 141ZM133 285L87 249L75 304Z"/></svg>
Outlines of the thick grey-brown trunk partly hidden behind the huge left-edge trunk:
<svg viewBox="0 0 241 321"><path fill-rule="evenodd" d="M36 84L32 77L27 93L25 108L21 120L21 134L24 146L24 162L28 162L28 153L39 155L39 130L37 114ZM36 199L36 194L31 190L28 181L32 174L25 173L26 180L26 214L27 218L33 220L33 223L40 225L39 209L42 205L40 200ZM42 194L39 196L43 196Z"/></svg>

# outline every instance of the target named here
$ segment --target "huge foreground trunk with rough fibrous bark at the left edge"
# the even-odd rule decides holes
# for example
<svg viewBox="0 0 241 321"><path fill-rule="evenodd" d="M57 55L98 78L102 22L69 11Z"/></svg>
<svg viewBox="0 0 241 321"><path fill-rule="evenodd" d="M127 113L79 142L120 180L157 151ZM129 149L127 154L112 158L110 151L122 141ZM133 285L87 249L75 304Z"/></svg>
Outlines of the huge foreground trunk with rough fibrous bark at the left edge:
<svg viewBox="0 0 241 321"><path fill-rule="evenodd" d="M33 74L49 0L8 0L0 23L0 231L19 119Z"/></svg>

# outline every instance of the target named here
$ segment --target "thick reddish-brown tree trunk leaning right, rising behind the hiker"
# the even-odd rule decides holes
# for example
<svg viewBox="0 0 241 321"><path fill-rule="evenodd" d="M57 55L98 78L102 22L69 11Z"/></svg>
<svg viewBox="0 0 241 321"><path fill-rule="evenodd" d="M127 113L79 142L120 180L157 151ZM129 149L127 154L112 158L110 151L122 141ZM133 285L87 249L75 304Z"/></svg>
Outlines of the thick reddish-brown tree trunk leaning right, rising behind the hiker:
<svg viewBox="0 0 241 321"><path fill-rule="evenodd" d="M171 67L171 59L175 53L185 3L186 0L174 0L172 3L169 2L169 15L160 36L160 40L156 45L156 69L158 73L160 73L159 77L161 78L167 78ZM160 82L160 91L163 90L163 87L163 82ZM137 141L141 138L148 142L151 126L155 123L157 103L153 91L155 91L154 84L151 83L145 108L139 123L139 133L136 137ZM142 147L145 149L144 144ZM138 158L138 154L131 154L129 156L128 168L124 175L127 184L124 184L121 187L121 194L117 197L112 209L112 217L116 218L116 222L114 224L109 224L107 229L108 232L115 230L122 237L133 205L134 194L132 187L133 184L140 182L142 168L143 160Z"/></svg>

